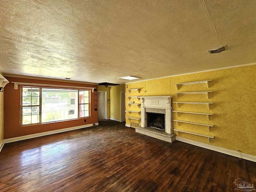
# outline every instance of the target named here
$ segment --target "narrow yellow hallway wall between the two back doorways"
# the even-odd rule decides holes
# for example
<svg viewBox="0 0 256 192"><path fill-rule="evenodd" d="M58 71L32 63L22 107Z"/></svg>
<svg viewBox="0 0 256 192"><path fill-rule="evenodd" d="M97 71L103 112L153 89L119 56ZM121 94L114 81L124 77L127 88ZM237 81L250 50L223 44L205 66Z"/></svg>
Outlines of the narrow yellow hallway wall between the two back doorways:
<svg viewBox="0 0 256 192"><path fill-rule="evenodd" d="M124 85L117 85L110 88L110 118L118 121L121 119L120 92L125 91Z"/></svg>

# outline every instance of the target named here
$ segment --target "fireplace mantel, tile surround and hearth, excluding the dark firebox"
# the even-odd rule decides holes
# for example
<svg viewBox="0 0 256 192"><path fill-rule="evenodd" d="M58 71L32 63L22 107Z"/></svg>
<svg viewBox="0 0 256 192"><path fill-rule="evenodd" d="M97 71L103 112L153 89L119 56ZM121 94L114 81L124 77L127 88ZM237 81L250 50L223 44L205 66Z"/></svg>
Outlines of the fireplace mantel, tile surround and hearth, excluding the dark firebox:
<svg viewBox="0 0 256 192"><path fill-rule="evenodd" d="M141 100L141 127L136 127L136 132L151 136L167 142L175 141L176 134L172 128L172 96L145 96ZM165 131L148 128L146 112L165 114Z"/></svg>

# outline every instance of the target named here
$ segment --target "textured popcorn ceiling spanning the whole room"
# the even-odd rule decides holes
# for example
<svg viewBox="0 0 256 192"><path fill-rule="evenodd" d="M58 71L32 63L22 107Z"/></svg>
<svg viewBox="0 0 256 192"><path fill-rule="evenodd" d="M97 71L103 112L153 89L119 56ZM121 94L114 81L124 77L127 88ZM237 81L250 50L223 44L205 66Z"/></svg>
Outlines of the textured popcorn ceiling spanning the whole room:
<svg viewBox="0 0 256 192"><path fill-rule="evenodd" d="M0 70L122 84L250 64L255 10L255 0L1 0Z"/></svg>

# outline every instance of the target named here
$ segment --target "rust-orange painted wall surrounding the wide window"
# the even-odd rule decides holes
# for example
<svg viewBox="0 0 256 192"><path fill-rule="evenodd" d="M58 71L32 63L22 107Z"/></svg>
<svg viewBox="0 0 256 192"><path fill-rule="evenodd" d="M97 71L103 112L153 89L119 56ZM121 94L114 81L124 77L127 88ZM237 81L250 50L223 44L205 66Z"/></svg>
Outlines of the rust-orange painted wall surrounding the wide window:
<svg viewBox="0 0 256 192"><path fill-rule="evenodd" d="M25 136L63 128L81 126L98 122L98 111L94 110L94 93L91 96L91 115L89 118L80 118L67 120L62 122L52 122L37 125L20 126L20 85L18 90L14 89L14 84L11 82L26 82L38 84L52 84L64 86L80 86L94 87L98 89L98 85L72 83L72 82L57 82L48 80L34 80L26 78L5 77L10 83L4 88L4 139ZM86 119L86 122L84 122Z"/></svg>

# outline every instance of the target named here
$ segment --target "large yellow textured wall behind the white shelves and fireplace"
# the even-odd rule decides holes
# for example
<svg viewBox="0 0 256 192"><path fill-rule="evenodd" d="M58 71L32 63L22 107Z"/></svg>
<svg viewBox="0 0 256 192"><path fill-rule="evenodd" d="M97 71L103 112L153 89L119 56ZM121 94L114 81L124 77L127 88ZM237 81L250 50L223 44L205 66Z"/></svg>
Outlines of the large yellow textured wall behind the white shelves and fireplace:
<svg viewBox="0 0 256 192"><path fill-rule="evenodd" d="M207 88L206 84L192 84L179 86L176 83L193 82L200 80L212 80ZM212 113L208 120L205 115L174 113L174 119L198 122L204 124L214 124L210 132L206 126L199 126L187 123L180 123L178 126L174 122L174 128L189 130L203 134L215 136L211 142L208 138L179 132L179 136L195 140L198 142L218 146L230 150L240 150L243 153L256 155L256 65L242 66L230 69L215 70L160 78L143 82L126 84L126 96L172 96L172 102L213 102L210 110L207 105L180 104L179 108L172 103L173 110ZM141 88L140 93L128 89ZM206 94L180 94L178 99L174 92L195 92L212 91L209 99ZM131 98L139 103L136 98ZM128 102L128 100L126 99ZM126 106L127 107L127 106ZM140 110L132 106L132 110ZM127 107L127 110L129 110ZM126 113L126 116L131 116ZM138 116L132 114L132 116ZM130 121L126 119L126 124ZM176 132L175 132L176 133Z"/></svg>

